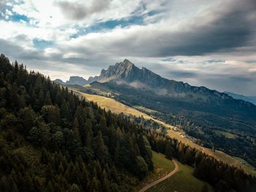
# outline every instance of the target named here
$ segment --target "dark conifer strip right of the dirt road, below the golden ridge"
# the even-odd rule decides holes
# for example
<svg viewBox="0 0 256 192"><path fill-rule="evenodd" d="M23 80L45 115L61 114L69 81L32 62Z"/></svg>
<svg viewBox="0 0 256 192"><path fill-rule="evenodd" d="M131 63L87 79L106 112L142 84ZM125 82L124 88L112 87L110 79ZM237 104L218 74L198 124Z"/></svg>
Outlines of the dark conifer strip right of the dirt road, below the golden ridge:
<svg viewBox="0 0 256 192"><path fill-rule="evenodd" d="M194 176L210 183L215 191L256 191L256 178L246 174L241 168L224 164L177 139L152 130L148 130L147 137L152 150L194 167Z"/></svg>

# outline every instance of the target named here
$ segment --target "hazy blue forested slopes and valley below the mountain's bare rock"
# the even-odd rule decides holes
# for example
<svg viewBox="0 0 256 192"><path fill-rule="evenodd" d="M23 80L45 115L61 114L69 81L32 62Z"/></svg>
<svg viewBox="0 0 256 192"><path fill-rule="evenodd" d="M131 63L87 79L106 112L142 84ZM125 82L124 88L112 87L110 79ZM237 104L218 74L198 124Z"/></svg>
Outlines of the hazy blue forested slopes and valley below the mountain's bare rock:
<svg viewBox="0 0 256 192"><path fill-rule="evenodd" d="M181 126L187 134L200 139L206 147L214 145L217 149L244 158L249 164L256 166L256 121L253 104L216 97L198 104L200 100L195 102L193 97L175 99L125 85L118 86L111 82L102 85L117 91L119 94L115 99L118 101L130 106L144 106L156 110L157 112L144 112L173 126ZM231 139L219 137L211 131L213 128L231 130L241 135Z"/></svg>

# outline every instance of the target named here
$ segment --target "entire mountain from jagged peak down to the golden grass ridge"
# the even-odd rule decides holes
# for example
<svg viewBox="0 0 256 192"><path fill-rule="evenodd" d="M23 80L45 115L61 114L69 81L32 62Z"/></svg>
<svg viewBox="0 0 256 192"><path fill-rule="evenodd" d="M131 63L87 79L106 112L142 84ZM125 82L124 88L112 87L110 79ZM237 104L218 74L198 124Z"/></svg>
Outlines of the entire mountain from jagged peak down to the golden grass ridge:
<svg viewBox="0 0 256 192"><path fill-rule="evenodd" d="M128 106L142 106L173 126L181 127L195 142L230 155L245 158L256 166L256 106L205 87L167 80L124 60L102 70L99 82L88 88L107 93ZM217 134L226 131L236 137Z"/></svg>

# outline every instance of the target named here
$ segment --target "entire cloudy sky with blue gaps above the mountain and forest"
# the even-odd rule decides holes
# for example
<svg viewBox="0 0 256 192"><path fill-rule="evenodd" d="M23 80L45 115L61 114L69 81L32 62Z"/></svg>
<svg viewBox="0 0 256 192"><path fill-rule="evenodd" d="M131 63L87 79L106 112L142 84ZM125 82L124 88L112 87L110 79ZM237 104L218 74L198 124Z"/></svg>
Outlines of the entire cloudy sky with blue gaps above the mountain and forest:
<svg viewBox="0 0 256 192"><path fill-rule="evenodd" d="M127 58L168 79L256 95L256 1L0 0L0 53L52 80Z"/></svg>

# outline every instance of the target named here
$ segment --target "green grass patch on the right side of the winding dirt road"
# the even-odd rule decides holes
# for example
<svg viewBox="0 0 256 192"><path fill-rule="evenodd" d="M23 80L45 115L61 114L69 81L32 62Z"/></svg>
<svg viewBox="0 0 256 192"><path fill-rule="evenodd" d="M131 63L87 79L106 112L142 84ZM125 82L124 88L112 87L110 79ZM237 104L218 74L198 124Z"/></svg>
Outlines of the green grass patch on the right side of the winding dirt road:
<svg viewBox="0 0 256 192"><path fill-rule="evenodd" d="M183 165L179 162L179 171L167 180L153 186L148 189L148 192L165 192L165 191L178 191L178 192L197 192L202 191L203 185L207 185L208 191L214 191L214 189L206 182L198 180L193 176L193 168L187 165Z"/></svg>

